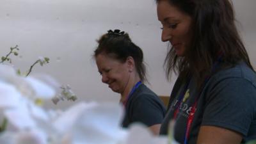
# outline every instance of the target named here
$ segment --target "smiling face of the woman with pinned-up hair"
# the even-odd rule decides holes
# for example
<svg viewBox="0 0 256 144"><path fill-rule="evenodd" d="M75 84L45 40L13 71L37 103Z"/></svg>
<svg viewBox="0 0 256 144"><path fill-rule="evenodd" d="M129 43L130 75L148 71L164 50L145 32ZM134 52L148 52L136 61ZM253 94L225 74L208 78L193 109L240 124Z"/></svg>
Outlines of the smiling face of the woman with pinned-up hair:
<svg viewBox="0 0 256 144"><path fill-rule="evenodd" d="M108 84L113 92L123 93L131 76L129 61L121 63L106 54L99 54L96 63L102 83Z"/></svg>

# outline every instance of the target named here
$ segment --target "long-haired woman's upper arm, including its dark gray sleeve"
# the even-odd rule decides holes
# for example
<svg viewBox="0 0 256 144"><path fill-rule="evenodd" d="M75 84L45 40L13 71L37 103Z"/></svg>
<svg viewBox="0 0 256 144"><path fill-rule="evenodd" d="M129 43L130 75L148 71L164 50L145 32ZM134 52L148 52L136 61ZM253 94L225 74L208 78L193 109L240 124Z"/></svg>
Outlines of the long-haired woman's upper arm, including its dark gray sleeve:
<svg viewBox="0 0 256 144"><path fill-rule="evenodd" d="M209 90L197 143L241 143L255 115L255 87L246 79L230 78Z"/></svg>

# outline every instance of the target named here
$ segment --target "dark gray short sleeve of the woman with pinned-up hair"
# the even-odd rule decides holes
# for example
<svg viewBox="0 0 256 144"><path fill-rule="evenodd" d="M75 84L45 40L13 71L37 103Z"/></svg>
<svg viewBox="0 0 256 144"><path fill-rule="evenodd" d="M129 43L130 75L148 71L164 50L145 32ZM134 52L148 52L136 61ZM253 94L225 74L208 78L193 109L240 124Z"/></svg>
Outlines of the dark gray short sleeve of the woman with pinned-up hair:
<svg viewBox="0 0 256 144"><path fill-rule="evenodd" d="M152 126L161 124L164 118L165 109L162 104L154 97L143 94L134 100L132 108L132 121L141 122Z"/></svg>

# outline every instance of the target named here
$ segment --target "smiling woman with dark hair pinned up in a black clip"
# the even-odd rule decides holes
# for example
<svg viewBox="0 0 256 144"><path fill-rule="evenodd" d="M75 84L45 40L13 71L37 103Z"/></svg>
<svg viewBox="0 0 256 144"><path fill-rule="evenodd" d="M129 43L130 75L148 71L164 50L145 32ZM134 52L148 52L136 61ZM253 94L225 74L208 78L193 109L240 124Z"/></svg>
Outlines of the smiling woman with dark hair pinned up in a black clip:
<svg viewBox="0 0 256 144"><path fill-rule="evenodd" d="M165 108L156 93L144 84L146 68L140 47L132 42L128 33L118 29L109 30L97 42L94 58L102 83L120 93L120 102L125 108L122 126L140 122L159 134Z"/></svg>

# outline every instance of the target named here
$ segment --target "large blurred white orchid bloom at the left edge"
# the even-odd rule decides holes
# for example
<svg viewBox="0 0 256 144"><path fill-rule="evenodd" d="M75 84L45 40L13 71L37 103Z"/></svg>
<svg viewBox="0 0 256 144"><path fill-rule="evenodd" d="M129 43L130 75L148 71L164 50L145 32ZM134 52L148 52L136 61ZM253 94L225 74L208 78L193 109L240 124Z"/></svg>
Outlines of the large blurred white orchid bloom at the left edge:
<svg viewBox="0 0 256 144"><path fill-rule="evenodd" d="M35 99L51 99L55 91L33 77L17 76L8 65L0 65L0 122L8 120L6 131L36 129L35 118L48 120L46 111L35 105Z"/></svg>

